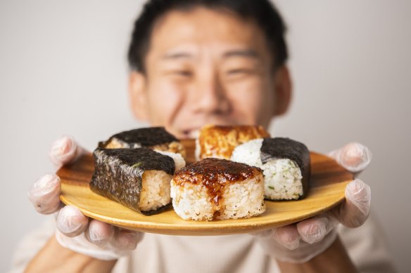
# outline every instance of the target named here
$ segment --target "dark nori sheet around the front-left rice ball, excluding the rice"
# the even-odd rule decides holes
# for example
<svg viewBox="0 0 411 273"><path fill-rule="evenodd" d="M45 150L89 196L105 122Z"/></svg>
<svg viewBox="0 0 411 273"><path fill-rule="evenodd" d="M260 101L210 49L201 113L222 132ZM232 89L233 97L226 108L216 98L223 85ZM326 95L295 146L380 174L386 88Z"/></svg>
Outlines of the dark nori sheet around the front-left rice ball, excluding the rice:
<svg viewBox="0 0 411 273"><path fill-rule="evenodd" d="M172 175L175 163L167 157L148 148L94 150L94 174L90 188L94 192L139 211L144 171L165 171ZM162 211L141 212L151 215Z"/></svg>

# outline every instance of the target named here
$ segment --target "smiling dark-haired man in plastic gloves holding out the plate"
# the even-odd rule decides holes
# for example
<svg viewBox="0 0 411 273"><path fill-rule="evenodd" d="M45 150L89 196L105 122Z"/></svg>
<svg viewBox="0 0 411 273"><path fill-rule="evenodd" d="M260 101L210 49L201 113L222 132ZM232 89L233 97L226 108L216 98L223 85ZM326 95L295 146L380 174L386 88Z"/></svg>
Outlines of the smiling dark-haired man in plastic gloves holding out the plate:
<svg viewBox="0 0 411 273"><path fill-rule="evenodd" d="M209 123L267 127L289 107L286 58L284 25L268 1L149 1L134 25L129 48L132 110L137 119L165 126L178 138L192 138ZM67 164L82 152L72 139L63 138L53 145L51 159L56 165ZM334 156L352 171L369 163L367 149L358 144ZM53 213L61 207L59 193L56 175L45 175L29 197L39 212ZM329 213L260 234L225 237L142 238L139 232L90 220L65 206L57 215L56 237L35 255L27 271L110 272L114 267L118 272L353 272L336 222L362 225L369 199L369 187L354 180L346 189L346 202ZM351 235L344 229L343 243L353 248L364 232L377 236L372 223L366 227ZM387 272L391 264L384 248L376 248L379 269ZM367 250L351 254L367 261ZM366 268L373 262L358 265Z"/></svg>

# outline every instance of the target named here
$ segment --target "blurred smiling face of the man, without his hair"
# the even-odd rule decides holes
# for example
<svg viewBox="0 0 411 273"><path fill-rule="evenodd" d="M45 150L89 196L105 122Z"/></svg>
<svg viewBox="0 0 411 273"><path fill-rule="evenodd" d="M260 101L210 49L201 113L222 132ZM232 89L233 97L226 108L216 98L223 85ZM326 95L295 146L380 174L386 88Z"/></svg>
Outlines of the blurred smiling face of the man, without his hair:
<svg viewBox="0 0 411 273"><path fill-rule="evenodd" d="M134 83L137 116L177 138L205 124L267 126L274 115L272 55L254 22L207 8L172 11L154 27L145 64Z"/></svg>

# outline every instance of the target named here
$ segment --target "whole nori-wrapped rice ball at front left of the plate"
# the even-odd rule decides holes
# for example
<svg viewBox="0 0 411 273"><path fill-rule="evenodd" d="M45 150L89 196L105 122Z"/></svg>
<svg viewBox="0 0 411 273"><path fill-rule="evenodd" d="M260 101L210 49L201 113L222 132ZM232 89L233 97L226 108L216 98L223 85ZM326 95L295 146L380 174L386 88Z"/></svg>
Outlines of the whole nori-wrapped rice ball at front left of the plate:
<svg viewBox="0 0 411 273"><path fill-rule="evenodd" d="M170 180L175 172L171 157L146 147L97 148L93 156L90 188L94 192L145 215L159 213L170 204Z"/></svg>

